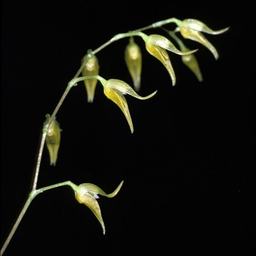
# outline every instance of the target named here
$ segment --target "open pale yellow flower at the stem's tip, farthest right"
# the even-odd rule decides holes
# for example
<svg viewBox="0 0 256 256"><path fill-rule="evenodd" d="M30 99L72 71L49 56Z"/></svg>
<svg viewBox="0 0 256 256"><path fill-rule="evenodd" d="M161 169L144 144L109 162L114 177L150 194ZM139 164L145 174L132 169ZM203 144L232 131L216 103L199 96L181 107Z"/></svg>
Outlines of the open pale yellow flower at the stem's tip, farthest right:
<svg viewBox="0 0 256 256"><path fill-rule="evenodd" d="M203 44L205 47L207 47L212 52L215 59L217 60L218 59L217 50L204 37L204 35L201 32L205 32L205 33L208 33L211 35L218 35L218 34L224 33L228 29L229 29L229 27L214 31L214 30L210 29L208 26L206 26L200 20L186 19L181 22L181 24L177 30L180 30L180 34L183 36L183 38L191 39L191 40L196 41L200 44Z"/></svg>

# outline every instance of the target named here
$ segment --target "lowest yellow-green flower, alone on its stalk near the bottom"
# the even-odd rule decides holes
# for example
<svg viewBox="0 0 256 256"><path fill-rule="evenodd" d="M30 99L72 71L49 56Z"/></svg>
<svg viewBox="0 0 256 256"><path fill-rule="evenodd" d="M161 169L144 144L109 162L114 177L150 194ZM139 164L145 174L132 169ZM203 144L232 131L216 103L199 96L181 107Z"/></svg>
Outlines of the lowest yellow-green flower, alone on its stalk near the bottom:
<svg viewBox="0 0 256 256"><path fill-rule="evenodd" d="M79 185L77 190L75 191L76 200L80 204L85 204L94 213L94 215L98 219L99 223L102 225L102 230L103 230L104 235L105 235L105 225L104 225L104 222L102 219L99 204L96 201L96 199L99 198L98 194L104 195L108 198L114 197L121 189L123 182L124 181L122 180L122 182L119 184L119 186L111 194L106 194L98 186L91 184L91 183L83 183L83 184Z"/></svg>

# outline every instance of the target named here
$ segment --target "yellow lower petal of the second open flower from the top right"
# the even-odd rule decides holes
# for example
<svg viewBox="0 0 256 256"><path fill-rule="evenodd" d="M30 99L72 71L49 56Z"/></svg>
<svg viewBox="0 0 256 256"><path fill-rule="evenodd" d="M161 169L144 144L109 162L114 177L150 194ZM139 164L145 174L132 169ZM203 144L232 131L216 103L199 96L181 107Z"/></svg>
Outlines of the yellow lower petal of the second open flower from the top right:
<svg viewBox="0 0 256 256"><path fill-rule="evenodd" d="M169 72L169 75L171 76L172 85L174 86L176 82L176 77L175 77L174 70L172 68L169 55L166 52L166 50L157 45L149 44L148 41L146 42L146 49L151 55L153 55L155 58L157 58L163 63L163 65L166 67L167 71Z"/></svg>

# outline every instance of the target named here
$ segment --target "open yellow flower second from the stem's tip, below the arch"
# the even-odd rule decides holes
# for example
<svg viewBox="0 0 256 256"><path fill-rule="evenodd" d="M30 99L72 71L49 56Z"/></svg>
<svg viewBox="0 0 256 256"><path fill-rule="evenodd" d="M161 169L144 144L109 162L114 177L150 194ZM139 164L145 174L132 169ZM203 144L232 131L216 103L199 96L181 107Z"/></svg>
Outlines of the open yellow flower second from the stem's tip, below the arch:
<svg viewBox="0 0 256 256"><path fill-rule="evenodd" d="M176 82L175 73L172 68L172 64L166 50L169 50L179 55L186 55L186 54L196 52L197 49L189 52L181 52L174 46L174 44L172 44L171 41L169 41L167 38L165 38L162 35L149 35L147 38L145 37L145 39L144 41L145 41L147 51L163 63L163 65L168 70L169 75L171 76L172 85L175 85L175 82Z"/></svg>

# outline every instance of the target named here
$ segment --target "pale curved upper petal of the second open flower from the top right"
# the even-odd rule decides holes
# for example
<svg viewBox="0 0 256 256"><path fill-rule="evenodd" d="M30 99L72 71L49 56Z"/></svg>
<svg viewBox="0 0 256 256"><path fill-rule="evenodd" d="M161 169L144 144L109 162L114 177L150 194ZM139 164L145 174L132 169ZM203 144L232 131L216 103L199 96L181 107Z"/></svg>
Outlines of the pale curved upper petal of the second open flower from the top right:
<svg viewBox="0 0 256 256"><path fill-rule="evenodd" d="M147 44L151 44L151 45L157 45L159 47L162 47L168 51L174 52L176 54L179 55L186 55L186 54L190 54L193 52L196 52L197 49L192 50L192 51L188 51L188 52L182 52L180 50L178 50L174 44L172 44L172 42L170 40L168 40L167 38L165 38L162 35L150 35L148 37L148 41Z"/></svg>

